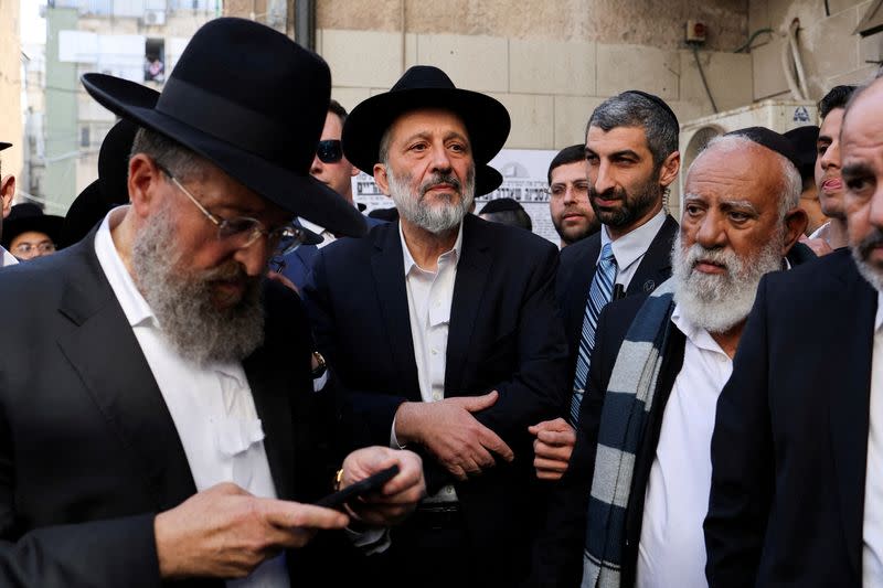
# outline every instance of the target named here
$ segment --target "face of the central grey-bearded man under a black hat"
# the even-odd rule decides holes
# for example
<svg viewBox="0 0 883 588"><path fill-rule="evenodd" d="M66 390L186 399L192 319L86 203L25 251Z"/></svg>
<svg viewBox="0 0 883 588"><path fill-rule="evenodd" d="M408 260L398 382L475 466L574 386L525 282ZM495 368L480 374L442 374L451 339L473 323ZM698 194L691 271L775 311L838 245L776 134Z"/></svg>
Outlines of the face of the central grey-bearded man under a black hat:
<svg viewBox="0 0 883 588"><path fill-rule="evenodd" d="M374 179L402 218L430 233L459 226L475 195L475 162L460 118L442 109L406 113L389 131L387 164Z"/></svg>

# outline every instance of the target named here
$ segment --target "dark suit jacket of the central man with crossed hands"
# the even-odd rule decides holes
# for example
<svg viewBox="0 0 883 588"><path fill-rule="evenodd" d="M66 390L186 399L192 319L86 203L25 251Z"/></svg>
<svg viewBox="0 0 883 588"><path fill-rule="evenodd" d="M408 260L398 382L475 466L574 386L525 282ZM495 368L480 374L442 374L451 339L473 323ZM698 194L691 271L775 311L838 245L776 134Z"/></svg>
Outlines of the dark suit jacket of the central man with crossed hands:
<svg viewBox="0 0 883 588"><path fill-rule="evenodd" d="M520 228L467 215L448 330L445 396L492 389L476 417L515 452L456 483L467 532L486 553L524 565L532 500L528 426L557 416L565 394L566 344L555 309L557 250ZM325 247L305 288L321 352L345 388L355 445L389 445L403 402L419 402L398 223ZM453 479L424 456L433 489ZM490 559L490 558L488 558ZM492 562L512 565L512 562Z"/></svg>

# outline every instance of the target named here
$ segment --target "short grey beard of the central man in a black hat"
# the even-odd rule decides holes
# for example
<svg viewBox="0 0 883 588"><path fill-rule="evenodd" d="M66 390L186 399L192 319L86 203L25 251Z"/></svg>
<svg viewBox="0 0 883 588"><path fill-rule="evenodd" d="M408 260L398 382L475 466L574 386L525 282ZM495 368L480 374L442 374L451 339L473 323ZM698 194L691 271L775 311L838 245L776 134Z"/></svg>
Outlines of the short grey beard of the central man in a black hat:
<svg viewBox="0 0 883 588"><path fill-rule="evenodd" d="M409 223L438 235L460 225L469 209L472 206L476 192L475 167L469 169L466 182L460 182L449 173L433 173L417 189L411 191L413 177L408 173L396 177L390 165L386 167L386 178L390 184L390 196L398 209L398 214ZM449 184L460 193L459 202L445 194L444 201L437 206L432 206L425 200L426 192L438 184Z"/></svg>

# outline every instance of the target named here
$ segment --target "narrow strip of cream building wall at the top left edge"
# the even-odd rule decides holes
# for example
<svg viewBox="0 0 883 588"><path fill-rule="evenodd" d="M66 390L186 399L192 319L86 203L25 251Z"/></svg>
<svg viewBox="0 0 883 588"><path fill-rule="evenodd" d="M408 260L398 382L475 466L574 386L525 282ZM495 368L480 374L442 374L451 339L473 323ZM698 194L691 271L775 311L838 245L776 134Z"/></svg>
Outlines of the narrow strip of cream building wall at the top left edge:
<svg viewBox="0 0 883 588"><path fill-rule="evenodd" d="M13 143L0 153L2 174L19 175L22 168L24 130L21 113L21 41L18 0L0 0L0 141Z"/></svg>

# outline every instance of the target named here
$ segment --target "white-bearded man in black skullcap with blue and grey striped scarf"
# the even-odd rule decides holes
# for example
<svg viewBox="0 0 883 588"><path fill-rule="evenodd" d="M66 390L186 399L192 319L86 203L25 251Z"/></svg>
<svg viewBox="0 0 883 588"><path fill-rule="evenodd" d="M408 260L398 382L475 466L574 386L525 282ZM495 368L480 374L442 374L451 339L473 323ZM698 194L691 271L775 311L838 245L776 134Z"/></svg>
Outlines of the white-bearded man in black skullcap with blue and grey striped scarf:
<svg viewBox="0 0 883 588"><path fill-rule="evenodd" d="M790 147L767 129L717 138L691 165L671 279L600 314L550 514L565 536L545 545L568 557L540 584L705 586L715 403L760 277L786 267L806 227L800 189Z"/></svg>

